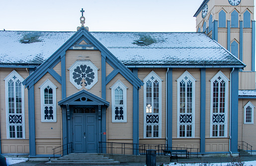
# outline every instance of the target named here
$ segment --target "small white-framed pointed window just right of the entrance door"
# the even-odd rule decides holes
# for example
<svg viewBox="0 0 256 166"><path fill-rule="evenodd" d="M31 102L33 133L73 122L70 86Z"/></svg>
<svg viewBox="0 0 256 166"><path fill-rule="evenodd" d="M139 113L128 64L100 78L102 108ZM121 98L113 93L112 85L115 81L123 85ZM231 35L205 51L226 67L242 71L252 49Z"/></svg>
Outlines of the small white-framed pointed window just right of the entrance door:
<svg viewBox="0 0 256 166"><path fill-rule="evenodd" d="M111 88L112 122L127 122L126 87L118 80Z"/></svg>

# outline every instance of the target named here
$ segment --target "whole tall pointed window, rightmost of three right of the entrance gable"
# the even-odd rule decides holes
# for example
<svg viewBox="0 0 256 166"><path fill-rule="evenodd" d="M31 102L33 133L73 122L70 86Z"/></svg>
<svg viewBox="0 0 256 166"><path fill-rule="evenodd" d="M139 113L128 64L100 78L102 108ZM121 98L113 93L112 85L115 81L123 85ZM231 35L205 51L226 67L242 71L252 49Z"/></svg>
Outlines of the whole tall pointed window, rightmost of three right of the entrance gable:
<svg viewBox="0 0 256 166"><path fill-rule="evenodd" d="M211 80L211 137L227 137L228 83L221 71Z"/></svg>

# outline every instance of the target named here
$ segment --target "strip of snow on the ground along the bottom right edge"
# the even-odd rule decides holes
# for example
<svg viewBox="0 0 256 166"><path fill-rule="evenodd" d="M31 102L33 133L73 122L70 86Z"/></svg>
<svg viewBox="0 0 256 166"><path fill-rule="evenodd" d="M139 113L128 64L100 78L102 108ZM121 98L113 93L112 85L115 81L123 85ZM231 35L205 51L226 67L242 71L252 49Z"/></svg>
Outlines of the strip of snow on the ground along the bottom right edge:
<svg viewBox="0 0 256 166"><path fill-rule="evenodd" d="M256 166L256 161L243 162L243 166ZM180 164L180 163L170 163L169 165L164 166L241 166L239 163L196 163L196 164Z"/></svg>

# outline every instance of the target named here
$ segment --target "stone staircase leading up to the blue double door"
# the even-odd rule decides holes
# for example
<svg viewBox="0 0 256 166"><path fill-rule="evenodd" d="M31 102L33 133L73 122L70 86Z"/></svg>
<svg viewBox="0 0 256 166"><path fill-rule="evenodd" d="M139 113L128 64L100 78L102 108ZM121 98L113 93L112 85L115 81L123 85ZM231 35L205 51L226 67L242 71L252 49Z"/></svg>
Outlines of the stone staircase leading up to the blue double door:
<svg viewBox="0 0 256 166"><path fill-rule="evenodd" d="M45 163L47 165L119 165L120 162L109 159L108 157L103 157L97 153L72 153L58 159L52 160Z"/></svg>

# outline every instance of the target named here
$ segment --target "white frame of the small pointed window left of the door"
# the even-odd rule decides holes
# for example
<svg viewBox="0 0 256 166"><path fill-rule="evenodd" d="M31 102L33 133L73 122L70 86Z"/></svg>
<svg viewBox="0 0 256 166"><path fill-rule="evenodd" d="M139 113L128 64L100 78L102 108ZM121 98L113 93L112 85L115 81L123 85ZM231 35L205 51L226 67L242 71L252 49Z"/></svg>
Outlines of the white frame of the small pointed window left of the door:
<svg viewBox="0 0 256 166"><path fill-rule="evenodd" d="M44 89L50 86L53 89L53 104L45 104L44 103ZM56 117L56 88L57 86L54 85L49 79L47 79L44 83L39 86L40 88L40 97L41 97L41 122L57 122ZM45 106L52 106L53 107L53 119L44 119L44 108Z"/></svg>

